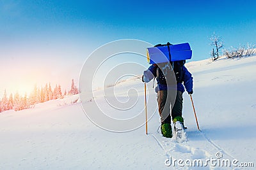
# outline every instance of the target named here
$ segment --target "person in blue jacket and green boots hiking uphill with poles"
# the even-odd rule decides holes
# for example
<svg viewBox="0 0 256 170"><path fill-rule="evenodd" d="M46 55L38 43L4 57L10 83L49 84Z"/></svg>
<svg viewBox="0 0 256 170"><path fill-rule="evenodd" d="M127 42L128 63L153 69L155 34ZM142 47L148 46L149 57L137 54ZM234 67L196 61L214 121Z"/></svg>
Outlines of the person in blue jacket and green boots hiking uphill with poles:
<svg viewBox="0 0 256 170"><path fill-rule="evenodd" d="M184 63L185 60L166 63L172 65L177 81L175 83L175 85L177 84L177 94L175 102L173 104L172 111L170 111L171 100L166 100L168 96L167 94L169 92L168 88L171 87L168 87L169 85L167 85L166 83L166 76L164 76L162 72L163 69L159 68L161 64L152 64L150 67L148 67L146 71L144 71L142 76L142 81L145 83L148 83L150 80L153 80L154 78L156 78L157 80L156 92L157 103L159 107L159 115L161 117L161 133L166 138L172 138L172 120L176 132L179 131L180 129L184 130L184 118L182 118L182 96L183 93L185 92L185 89L188 92L188 94L193 94L193 77L191 73L189 73L188 69L186 69L186 67L184 66ZM179 71L179 73L176 73L177 70L179 69L181 71ZM177 76L177 74L179 74L179 76Z"/></svg>

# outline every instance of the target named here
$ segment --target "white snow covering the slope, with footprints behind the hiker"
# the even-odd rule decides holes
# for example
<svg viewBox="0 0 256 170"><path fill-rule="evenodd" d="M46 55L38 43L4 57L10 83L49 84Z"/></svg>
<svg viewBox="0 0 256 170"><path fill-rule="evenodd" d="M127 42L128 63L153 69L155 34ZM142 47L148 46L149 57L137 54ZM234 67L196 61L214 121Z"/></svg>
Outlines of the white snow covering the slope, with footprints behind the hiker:
<svg viewBox="0 0 256 170"><path fill-rule="evenodd" d="M35 108L0 113L0 169L253 169L245 167L166 166L172 159L237 159L256 166L256 57L202 60L186 64L195 80L193 100L202 132L196 127L190 97L184 93L183 116L188 141L177 143L157 133L156 99L148 102L148 135L145 125L124 133L105 131L90 122L77 96L37 104ZM142 73L142 71L141 71ZM144 108L144 84L139 79L116 85L116 97L127 101L127 90L138 91L137 112L111 117L134 117ZM152 82L148 98L156 98ZM111 88L110 88L111 89ZM101 107L108 104L95 94ZM98 94L98 96L97 96ZM92 98L93 99L93 98ZM93 102L83 103L90 107ZM141 112L141 114L145 114Z"/></svg>

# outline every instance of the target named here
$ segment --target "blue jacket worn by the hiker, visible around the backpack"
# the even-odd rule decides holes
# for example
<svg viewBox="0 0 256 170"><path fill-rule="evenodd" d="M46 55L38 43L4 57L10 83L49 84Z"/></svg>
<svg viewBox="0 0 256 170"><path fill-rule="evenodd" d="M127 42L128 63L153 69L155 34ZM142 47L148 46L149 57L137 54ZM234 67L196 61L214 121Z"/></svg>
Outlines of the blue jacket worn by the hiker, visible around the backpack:
<svg viewBox="0 0 256 170"><path fill-rule="evenodd" d="M150 80L156 78L156 69L157 69L157 66L154 66L154 65L151 65L150 67L148 67L148 69L143 73L143 81L148 83ZM184 80L183 80L184 85L182 83L177 83L177 90L179 90L180 92L184 92L186 88L187 92L191 92L193 90L192 74L189 73L188 69L186 69L185 66L182 67L182 71L184 75ZM168 88L172 88L172 87L168 87ZM167 90L167 85L163 85L159 83L159 80L157 80L156 92L158 90Z"/></svg>

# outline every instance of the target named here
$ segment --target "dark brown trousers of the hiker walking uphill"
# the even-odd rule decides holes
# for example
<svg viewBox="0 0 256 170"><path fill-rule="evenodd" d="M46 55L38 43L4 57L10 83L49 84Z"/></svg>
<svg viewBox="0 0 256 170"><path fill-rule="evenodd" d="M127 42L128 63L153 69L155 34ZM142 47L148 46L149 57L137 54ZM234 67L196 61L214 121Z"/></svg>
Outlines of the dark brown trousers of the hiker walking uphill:
<svg viewBox="0 0 256 170"><path fill-rule="evenodd" d="M168 99L167 101L167 90L159 90L157 92L157 102L158 102L159 115L161 117L161 124L171 124L172 118L182 117L182 104L183 104L182 96L183 96L183 93L180 91L177 91L175 103L172 107L172 112L171 112L170 111L171 104L172 104L171 101L174 101L174 99Z"/></svg>

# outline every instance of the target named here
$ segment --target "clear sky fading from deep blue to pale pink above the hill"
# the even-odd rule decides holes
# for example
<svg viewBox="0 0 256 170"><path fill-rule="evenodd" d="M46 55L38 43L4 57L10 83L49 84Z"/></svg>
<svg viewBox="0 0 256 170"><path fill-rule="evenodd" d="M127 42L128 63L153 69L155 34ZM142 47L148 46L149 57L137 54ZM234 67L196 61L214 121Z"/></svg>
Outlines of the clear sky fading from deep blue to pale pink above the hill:
<svg viewBox="0 0 256 170"><path fill-rule="evenodd" d="M30 86L53 80L68 88L72 78L78 80L86 57L116 39L152 44L189 42L192 60L209 58L212 32L222 37L225 48L256 44L255 5L255 1L219 0L0 0L0 76L6 81L0 91L17 77L25 80L38 67L40 76L26 80Z"/></svg>

